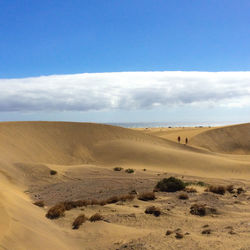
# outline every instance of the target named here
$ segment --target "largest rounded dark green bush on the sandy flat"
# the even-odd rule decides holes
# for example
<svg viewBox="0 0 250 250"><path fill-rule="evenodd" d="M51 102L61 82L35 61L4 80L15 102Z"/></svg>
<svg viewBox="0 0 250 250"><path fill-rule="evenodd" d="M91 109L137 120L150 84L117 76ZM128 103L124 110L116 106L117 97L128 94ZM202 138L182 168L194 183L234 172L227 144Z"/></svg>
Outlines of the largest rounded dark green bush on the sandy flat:
<svg viewBox="0 0 250 250"><path fill-rule="evenodd" d="M175 177L164 178L159 181L156 188L162 192L176 192L185 188L185 183Z"/></svg>

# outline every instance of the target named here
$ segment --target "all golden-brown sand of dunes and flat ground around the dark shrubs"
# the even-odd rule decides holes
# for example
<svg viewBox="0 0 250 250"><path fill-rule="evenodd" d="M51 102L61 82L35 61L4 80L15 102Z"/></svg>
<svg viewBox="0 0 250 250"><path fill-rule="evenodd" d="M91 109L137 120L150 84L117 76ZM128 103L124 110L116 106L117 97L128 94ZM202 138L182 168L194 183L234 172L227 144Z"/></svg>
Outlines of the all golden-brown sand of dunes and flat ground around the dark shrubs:
<svg viewBox="0 0 250 250"><path fill-rule="evenodd" d="M177 137L181 136L181 143ZM183 144L188 137L189 143ZM114 171L122 167L122 171ZM132 168L128 174L124 169ZM55 170L55 175L50 174ZM197 192L156 192L156 200L88 205L50 220L63 201L152 192L170 176ZM195 183L204 182L205 186ZM241 194L206 192L207 185ZM35 206L44 201L44 207ZM197 216L192 204L217 209ZM159 217L145 214L154 205ZM74 219L96 212L104 220ZM210 229L210 234L202 231ZM173 231L166 235L167 230ZM176 238L176 233L183 238ZM217 128L120 127L63 122L0 123L0 249L250 249L250 124Z"/></svg>

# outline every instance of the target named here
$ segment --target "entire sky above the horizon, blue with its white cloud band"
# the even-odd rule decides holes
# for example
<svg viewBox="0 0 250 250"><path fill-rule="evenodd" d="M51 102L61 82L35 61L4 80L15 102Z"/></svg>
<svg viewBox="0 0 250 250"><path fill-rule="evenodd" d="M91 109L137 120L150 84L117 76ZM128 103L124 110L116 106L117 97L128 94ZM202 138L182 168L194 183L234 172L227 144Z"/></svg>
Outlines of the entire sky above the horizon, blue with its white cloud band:
<svg viewBox="0 0 250 250"><path fill-rule="evenodd" d="M250 120L249 0L0 1L0 121Z"/></svg>

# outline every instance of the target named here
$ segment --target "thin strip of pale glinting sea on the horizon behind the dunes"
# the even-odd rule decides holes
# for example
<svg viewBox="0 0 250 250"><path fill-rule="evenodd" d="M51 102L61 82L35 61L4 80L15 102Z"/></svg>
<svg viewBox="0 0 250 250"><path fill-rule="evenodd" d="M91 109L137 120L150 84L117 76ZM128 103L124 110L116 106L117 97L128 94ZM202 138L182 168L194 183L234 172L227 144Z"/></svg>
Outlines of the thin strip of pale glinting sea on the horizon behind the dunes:
<svg viewBox="0 0 250 250"><path fill-rule="evenodd" d="M161 128L161 127L216 127L239 124L240 122L114 122L105 123L113 126L120 126L124 128Z"/></svg>

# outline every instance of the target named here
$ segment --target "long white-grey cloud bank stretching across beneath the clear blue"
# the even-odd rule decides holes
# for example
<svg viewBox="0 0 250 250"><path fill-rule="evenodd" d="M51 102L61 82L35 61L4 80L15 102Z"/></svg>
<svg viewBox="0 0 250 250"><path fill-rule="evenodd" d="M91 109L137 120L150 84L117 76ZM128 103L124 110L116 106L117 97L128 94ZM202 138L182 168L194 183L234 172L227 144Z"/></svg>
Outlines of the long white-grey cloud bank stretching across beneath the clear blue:
<svg viewBox="0 0 250 250"><path fill-rule="evenodd" d="M250 72L117 72L0 79L0 112L250 106Z"/></svg>

